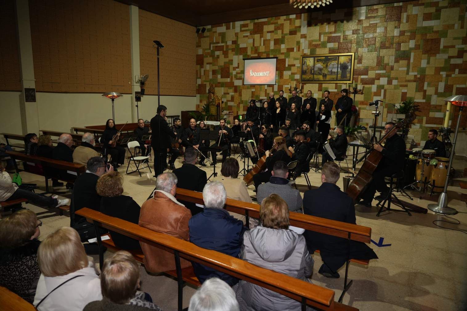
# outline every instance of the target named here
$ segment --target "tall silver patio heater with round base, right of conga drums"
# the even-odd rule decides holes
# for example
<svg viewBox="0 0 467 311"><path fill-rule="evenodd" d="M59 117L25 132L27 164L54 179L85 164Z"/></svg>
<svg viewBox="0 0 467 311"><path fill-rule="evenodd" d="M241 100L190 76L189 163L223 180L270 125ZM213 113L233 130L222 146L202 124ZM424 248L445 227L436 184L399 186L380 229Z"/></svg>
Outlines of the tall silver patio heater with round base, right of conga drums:
<svg viewBox="0 0 467 311"><path fill-rule="evenodd" d="M453 163L453 156L454 156L454 151L456 148L456 140L457 140L457 132L459 131L460 116L462 115L462 110L464 109L464 106L467 106L467 95L454 95L454 96L445 98L444 101L449 102L453 105L459 106L459 116L457 117L456 131L454 132L453 149L451 151L451 155L449 156L449 165L447 166L444 190L443 190L443 193L439 195L438 203L428 204L428 209L436 213L452 215L452 214L457 214L457 210L453 207L447 206L447 183L449 181L449 172L451 172L451 165Z"/></svg>

